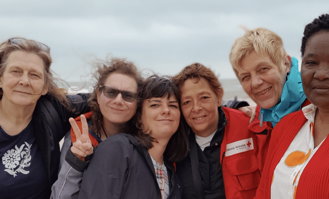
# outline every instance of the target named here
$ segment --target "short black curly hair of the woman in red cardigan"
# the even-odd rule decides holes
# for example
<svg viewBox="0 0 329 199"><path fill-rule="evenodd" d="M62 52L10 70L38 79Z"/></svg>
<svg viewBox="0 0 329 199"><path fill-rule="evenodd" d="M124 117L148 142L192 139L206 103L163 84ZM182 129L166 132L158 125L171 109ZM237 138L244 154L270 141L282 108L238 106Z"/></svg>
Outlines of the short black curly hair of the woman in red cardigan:
<svg viewBox="0 0 329 199"><path fill-rule="evenodd" d="M329 31L329 14L322 14L319 18L314 19L305 26L302 46L300 48L302 57L304 56L307 40L319 31Z"/></svg>

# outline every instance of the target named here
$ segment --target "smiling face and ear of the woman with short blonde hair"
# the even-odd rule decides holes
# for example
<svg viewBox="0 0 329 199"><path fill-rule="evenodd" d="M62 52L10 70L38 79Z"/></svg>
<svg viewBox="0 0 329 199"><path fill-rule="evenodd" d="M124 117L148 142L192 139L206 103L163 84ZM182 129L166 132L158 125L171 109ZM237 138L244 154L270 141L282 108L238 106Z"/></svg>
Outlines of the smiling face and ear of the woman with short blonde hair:
<svg viewBox="0 0 329 199"><path fill-rule="evenodd" d="M286 55L281 72L271 58L253 51L241 60L238 78L243 90L262 108L268 109L281 100L281 93L290 72L291 58Z"/></svg>

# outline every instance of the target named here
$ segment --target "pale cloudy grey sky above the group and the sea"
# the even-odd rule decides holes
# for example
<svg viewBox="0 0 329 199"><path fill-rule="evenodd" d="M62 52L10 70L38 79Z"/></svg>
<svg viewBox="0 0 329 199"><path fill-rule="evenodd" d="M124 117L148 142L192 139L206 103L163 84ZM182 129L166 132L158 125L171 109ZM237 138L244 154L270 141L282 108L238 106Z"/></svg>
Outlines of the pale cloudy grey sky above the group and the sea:
<svg viewBox="0 0 329 199"><path fill-rule="evenodd" d="M21 36L51 47L52 69L66 81L90 80L91 55L111 54L140 70L175 75L199 62L235 78L229 53L240 26L265 27L300 60L306 24L329 13L327 0L1 0L0 40Z"/></svg>

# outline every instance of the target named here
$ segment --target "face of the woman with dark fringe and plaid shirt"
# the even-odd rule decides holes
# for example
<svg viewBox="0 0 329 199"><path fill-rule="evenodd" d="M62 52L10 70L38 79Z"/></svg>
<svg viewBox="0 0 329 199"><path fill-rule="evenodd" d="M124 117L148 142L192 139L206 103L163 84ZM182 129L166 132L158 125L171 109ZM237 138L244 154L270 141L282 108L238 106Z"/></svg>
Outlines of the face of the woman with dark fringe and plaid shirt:
<svg viewBox="0 0 329 199"><path fill-rule="evenodd" d="M141 123L155 139L170 139L177 131L180 120L178 100L171 95L146 99L142 104Z"/></svg>

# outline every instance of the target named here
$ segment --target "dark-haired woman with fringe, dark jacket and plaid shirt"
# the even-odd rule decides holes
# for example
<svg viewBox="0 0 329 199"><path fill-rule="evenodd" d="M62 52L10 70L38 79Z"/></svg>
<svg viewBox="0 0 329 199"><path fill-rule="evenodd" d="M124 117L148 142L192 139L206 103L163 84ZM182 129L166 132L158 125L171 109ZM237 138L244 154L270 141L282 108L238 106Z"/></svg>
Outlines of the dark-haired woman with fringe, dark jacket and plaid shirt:
<svg viewBox="0 0 329 199"><path fill-rule="evenodd" d="M79 198L181 198L182 186L172 165L188 151L180 92L168 78L151 76L139 96L136 128L96 147Z"/></svg>

